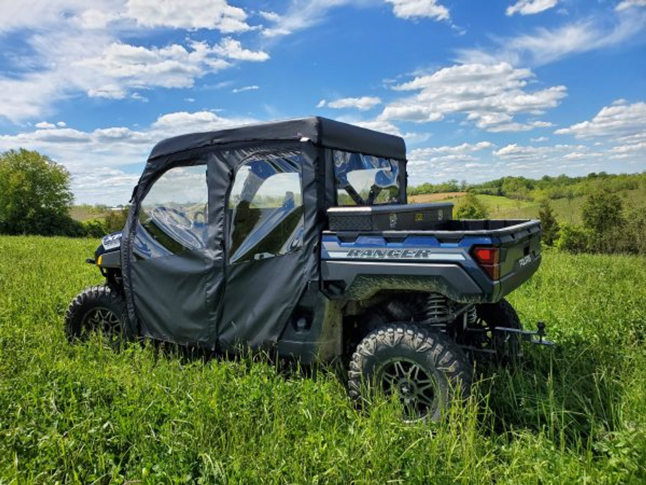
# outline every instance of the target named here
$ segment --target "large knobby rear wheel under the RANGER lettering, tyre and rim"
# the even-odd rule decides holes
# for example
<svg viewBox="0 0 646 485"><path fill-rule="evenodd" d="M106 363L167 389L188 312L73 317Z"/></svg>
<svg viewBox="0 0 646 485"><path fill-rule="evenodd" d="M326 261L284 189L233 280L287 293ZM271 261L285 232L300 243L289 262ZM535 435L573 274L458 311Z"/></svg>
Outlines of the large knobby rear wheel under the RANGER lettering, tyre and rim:
<svg viewBox="0 0 646 485"><path fill-rule="evenodd" d="M404 420L437 421L453 401L468 395L472 368L448 336L391 323L359 343L348 376L349 394L356 400L377 389L399 397Z"/></svg>

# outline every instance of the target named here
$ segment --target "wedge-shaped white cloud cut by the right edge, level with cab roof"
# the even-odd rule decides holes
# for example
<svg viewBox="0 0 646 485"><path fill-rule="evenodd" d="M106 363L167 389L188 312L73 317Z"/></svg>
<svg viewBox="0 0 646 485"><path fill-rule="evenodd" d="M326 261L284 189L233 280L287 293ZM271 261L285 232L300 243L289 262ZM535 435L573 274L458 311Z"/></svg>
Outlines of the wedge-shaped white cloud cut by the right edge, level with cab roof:
<svg viewBox="0 0 646 485"><path fill-rule="evenodd" d="M620 100L603 107L592 120L557 129L554 133L581 139L646 140L646 102L629 104Z"/></svg>

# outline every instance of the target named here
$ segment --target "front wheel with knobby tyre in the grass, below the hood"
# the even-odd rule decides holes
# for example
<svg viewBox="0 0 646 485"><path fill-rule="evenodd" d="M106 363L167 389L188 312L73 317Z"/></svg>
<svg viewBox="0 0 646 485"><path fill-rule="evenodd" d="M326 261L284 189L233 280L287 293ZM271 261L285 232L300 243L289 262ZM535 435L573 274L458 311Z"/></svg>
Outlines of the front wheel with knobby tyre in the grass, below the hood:
<svg viewBox="0 0 646 485"><path fill-rule="evenodd" d="M70 342L87 340L99 333L118 348L125 339L126 305L121 292L110 285L87 288L70 303L65 314L65 334Z"/></svg>

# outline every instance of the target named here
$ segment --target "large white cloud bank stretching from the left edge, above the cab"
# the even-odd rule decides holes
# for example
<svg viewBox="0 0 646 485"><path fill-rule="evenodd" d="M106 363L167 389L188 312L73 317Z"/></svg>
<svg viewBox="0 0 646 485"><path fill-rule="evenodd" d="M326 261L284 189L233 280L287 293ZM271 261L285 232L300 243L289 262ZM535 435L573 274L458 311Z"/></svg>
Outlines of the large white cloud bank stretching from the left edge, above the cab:
<svg viewBox="0 0 646 485"><path fill-rule="evenodd" d="M265 61L269 54L224 38L216 45L143 47L114 41L103 31L81 32L72 24L28 39L41 70L21 77L0 75L0 116L20 122L50 114L57 101L78 92L90 97L147 101L138 91L192 87L234 61ZM79 42L79 38L83 42Z"/></svg>

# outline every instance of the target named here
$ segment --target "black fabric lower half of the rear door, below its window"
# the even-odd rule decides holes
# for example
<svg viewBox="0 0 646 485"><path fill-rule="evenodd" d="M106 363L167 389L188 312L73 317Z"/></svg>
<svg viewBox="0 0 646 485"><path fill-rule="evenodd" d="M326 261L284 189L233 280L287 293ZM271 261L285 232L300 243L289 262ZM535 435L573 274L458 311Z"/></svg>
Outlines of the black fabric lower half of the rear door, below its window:
<svg viewBox="0 0 646 485"><path fill-rule="evenodd" d="M233 264L227 272L218 324L220 348L230 349L236 343L271 347L304 288L303 252Z"/></svg>

